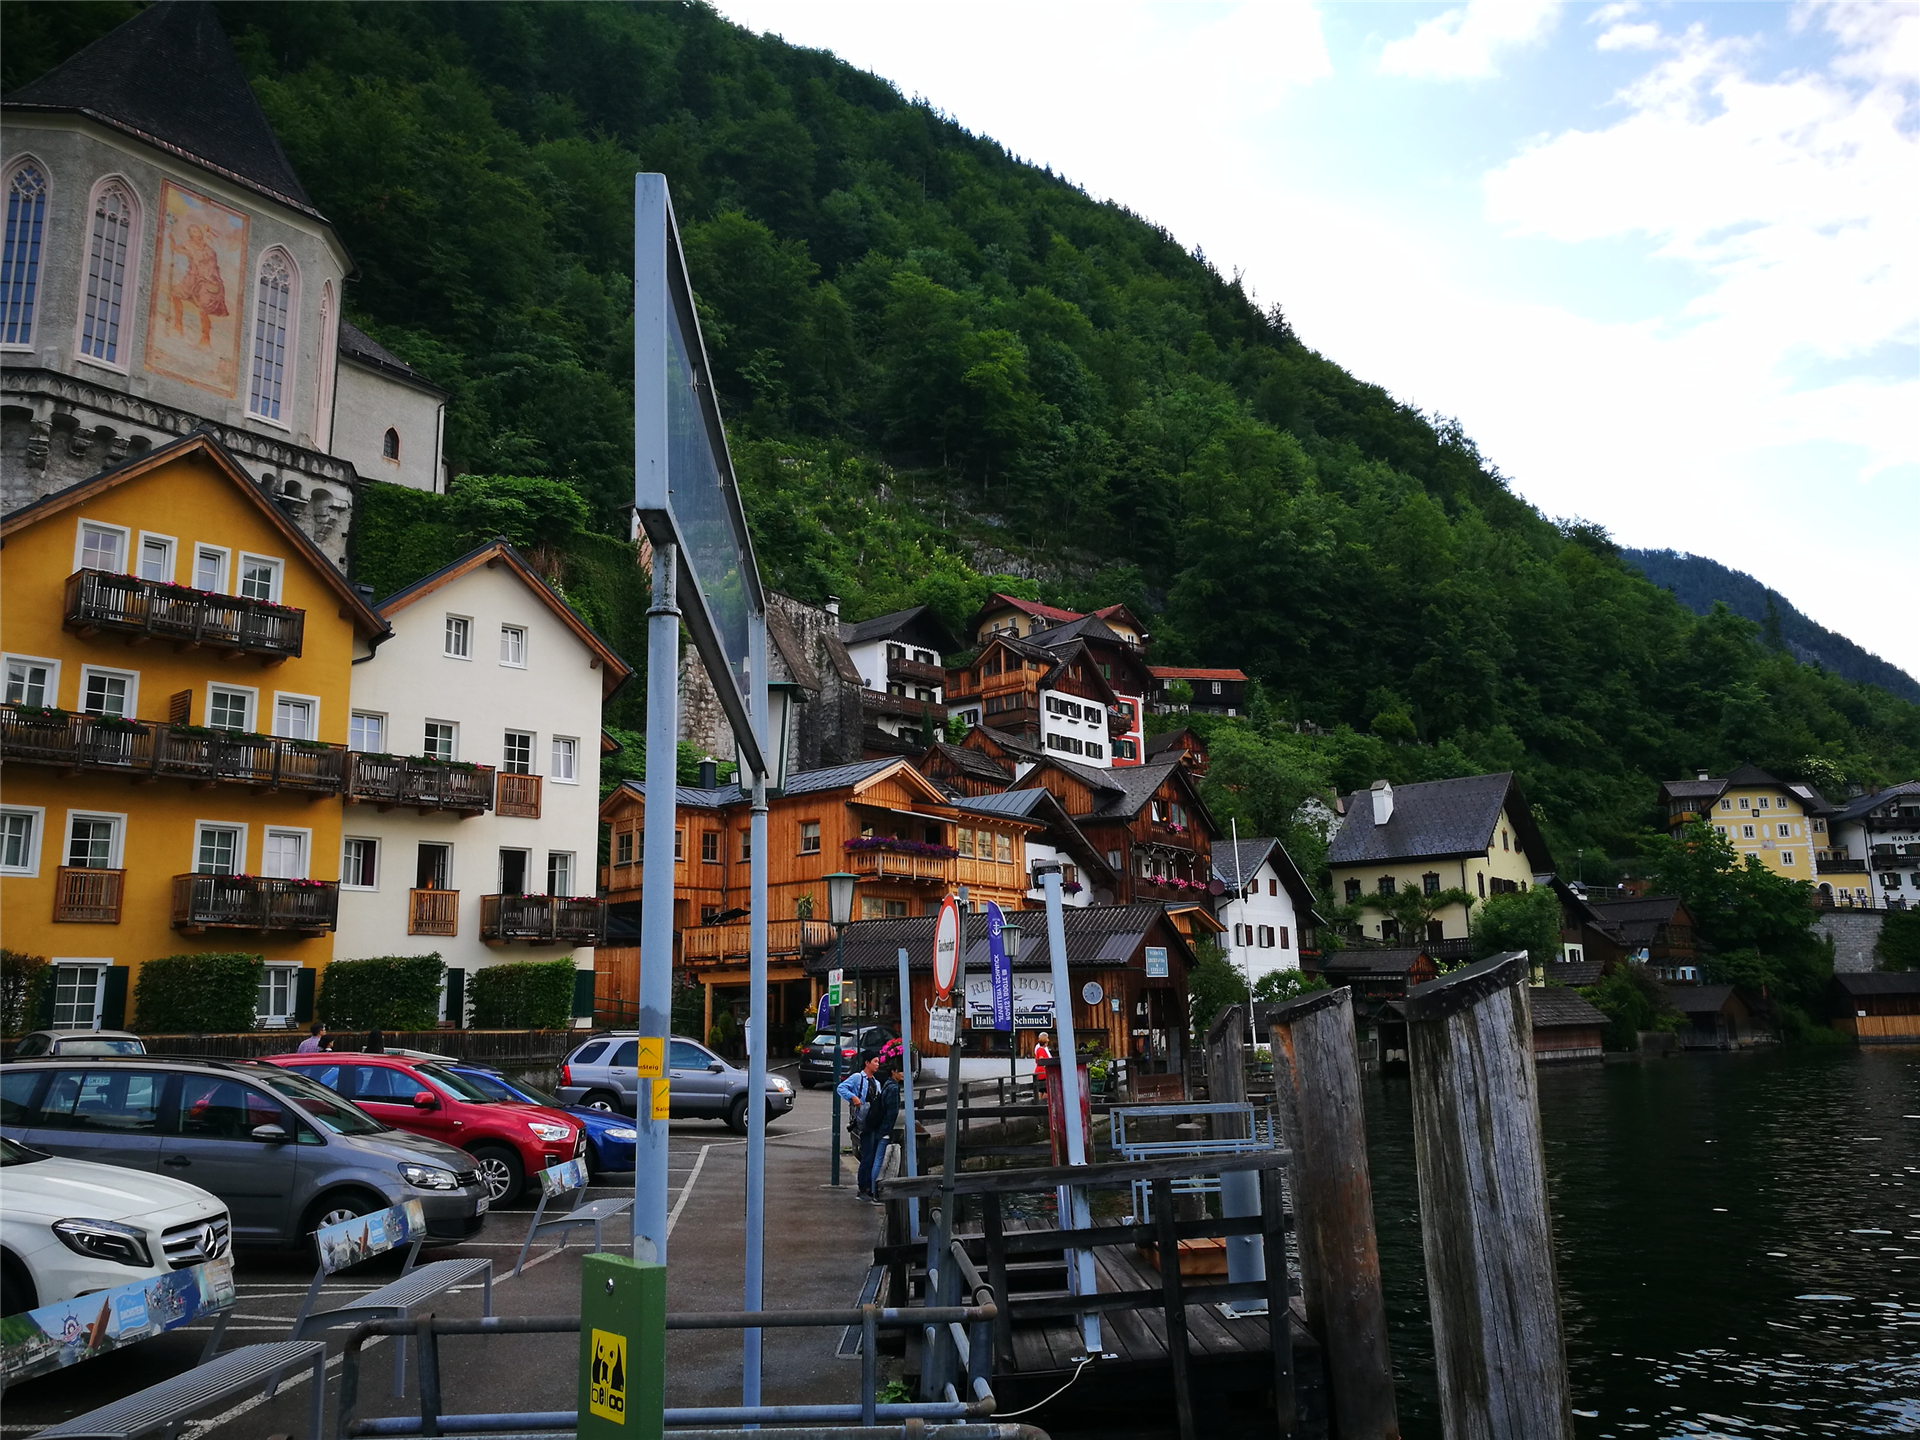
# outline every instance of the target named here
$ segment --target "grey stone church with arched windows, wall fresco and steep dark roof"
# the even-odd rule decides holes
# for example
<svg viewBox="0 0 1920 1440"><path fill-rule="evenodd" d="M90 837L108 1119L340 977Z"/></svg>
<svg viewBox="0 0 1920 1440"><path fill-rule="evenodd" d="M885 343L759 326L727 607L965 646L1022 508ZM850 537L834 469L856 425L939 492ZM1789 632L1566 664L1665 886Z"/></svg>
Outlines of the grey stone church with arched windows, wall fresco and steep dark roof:
<svg viewBox="0 0 1920 1440"><path fill-rule="evenodd" d="M342 323L353 259L213 6L142 10L4 113L6 509L207 426L344 570L363 480L444 488L445 394Z"/></svg>

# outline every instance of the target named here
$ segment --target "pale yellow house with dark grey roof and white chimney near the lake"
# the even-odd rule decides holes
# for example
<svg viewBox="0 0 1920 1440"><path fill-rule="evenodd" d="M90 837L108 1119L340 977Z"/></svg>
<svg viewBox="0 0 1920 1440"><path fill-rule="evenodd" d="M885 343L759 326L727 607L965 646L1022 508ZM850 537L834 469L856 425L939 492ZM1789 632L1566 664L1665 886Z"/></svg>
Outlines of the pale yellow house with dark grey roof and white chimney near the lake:
<svg viewBox="0 0 1920 1440"><path fill-rule="evenodd" d="M1490 895L1524 891L1553 872L1519 781L1507 772L1430 780L1419 785L1373 781L1346 797L1346 820L1327 849L1332 895L1361 904L1369 895L1415 889L1438 895L1463 889L1475 904ZM1363 939L1411 939L1428 948L1467 941L1467 906L1442 906L1425 935L1400 935L1396 920L1375 912ZM1461 950L1463 952L1463 950ZM1446 950L1453 954L1453 950Z"/></svg>

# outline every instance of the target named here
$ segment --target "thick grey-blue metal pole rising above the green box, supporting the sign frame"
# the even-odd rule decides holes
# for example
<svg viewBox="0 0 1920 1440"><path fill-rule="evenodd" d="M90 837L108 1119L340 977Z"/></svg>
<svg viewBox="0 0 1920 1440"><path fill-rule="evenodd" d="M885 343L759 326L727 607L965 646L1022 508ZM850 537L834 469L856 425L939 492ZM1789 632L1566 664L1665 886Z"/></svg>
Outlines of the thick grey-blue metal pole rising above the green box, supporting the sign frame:
<svg viewBox="0 0 1920 1440"><path fill-rule="evenodd" d="M647 611L647 854L639 891L639 1033L657 1037L664 1071L674 1010L674 789L680 780L680 607L676 545L653 547ZM666 1263L666 1119L653 1117L649 1079L636 1094L634 1260Z"/></svg>

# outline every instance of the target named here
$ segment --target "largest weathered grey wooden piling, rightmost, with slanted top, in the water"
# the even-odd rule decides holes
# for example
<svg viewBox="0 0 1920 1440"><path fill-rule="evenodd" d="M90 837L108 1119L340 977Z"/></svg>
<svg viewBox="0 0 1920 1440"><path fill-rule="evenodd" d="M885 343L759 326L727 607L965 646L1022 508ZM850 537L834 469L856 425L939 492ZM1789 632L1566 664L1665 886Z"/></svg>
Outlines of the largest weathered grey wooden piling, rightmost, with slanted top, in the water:
<svg viewBox="0 0 1920 1440"><path fill-rule="evenodd" d="M1407 993L1421 1240L1448 1440L1572 1440L1526 952Z"/></svg>

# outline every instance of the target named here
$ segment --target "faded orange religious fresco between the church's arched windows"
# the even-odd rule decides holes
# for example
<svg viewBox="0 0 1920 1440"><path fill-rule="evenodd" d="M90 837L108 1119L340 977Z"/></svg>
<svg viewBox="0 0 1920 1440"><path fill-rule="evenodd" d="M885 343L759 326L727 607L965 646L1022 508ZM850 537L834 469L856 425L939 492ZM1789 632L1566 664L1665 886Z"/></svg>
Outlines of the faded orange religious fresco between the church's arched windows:
<svg viewBox="0 0 1920 1440"><path fill-rule="evenodd" d="M159 188L146 369L232 399L240 392L248 217L173 180Z"/></svg>

